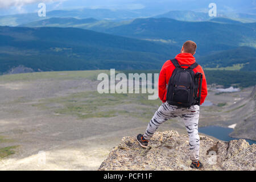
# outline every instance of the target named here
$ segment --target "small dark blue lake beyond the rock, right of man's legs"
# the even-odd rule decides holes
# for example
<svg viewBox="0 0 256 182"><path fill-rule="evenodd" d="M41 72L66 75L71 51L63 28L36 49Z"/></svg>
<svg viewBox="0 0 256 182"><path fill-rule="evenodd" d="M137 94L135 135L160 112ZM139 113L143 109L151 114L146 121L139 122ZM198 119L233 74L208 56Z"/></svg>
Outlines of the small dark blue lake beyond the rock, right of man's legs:
<svg viewBox="0 0 256 182"><path fill-rule="evenodd" d="M199 132L203 134L210 135L212 137L215 137L217 139L223 140L223 141L230 141L235 140L238 138L232 138L229 137L229 134L232 133L233 129L230 129L228 127L220 127L220 126L207 126L207 127L200 127ZM249 144L256 144L256 141L245 139Z"/></svg>

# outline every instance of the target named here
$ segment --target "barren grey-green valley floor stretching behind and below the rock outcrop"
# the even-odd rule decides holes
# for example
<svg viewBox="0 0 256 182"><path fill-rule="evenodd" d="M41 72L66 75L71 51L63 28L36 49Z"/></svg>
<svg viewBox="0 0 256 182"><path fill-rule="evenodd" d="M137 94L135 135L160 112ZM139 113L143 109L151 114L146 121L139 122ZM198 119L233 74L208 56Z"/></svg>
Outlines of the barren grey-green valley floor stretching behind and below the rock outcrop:
<svg viewBox="0 0 256 182"><path fill-rule="evenodd" d="M101 72L108 73L0 76L0 170L96 170L122 137L143 133L161 102L147 100L145 94L99 94ZM253 102L248 102L252 90L216 94L209 88L207 100L213 105L201 107L199 126L241 122L242 129L241 118L253 114ZM249 126L255 123L246 121ZM187 134L179 119L158 131L171 129ZM242 134L255 136L253 127L247 129ZM38 163L42 151L43 164Z"/></svg>

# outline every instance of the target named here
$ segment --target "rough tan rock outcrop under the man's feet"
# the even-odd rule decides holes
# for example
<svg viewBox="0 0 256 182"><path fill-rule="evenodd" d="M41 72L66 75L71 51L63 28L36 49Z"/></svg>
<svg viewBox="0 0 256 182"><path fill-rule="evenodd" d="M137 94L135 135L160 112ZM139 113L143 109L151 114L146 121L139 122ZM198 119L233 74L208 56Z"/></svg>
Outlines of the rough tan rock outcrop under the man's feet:
<svg viewBox="0 0 256 182"><path fill-rule="evenodd" d="M214 141L200 136L202 170L255 170L256 144L244 139ZM124 137L98 170L196 170L189 167L188 136L177 131L156 132L142 148L135 137Z"/></svg>

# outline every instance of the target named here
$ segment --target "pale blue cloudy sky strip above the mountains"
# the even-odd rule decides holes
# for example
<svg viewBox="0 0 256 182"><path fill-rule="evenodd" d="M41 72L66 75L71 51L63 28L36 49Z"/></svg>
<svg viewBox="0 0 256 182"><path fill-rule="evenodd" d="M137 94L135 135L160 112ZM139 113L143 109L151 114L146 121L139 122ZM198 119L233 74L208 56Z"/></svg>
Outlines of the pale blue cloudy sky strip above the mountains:
<svg viewBox="0 0 256 182"><path fill-rule="evenodd" d="M89 7L159 11L206 11L209 3L213 2L216 3L221 11L255 13L256 7L256 0L0 0L0 15L36 12L38 11L38 4L41 2L46 3L48 10Z"/></svg>

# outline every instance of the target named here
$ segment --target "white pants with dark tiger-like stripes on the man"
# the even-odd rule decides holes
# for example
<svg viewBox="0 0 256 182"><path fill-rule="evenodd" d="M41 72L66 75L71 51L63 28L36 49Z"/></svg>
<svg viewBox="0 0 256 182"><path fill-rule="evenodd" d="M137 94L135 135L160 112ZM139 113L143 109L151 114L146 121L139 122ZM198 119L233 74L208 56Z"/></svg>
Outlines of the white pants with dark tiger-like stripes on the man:
<svg viewBox="0 0 256 182"><path fill-rule="evenodd" d="M167 102L163 103L155 112L147 130L144 139L150 139L158 127L168 119L181 117L183 118L185 127L189 136L189 150L192 161L199 160L200 138L198 134L199 106L191 106L189 108L172 106Z"/></svg>

